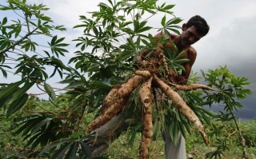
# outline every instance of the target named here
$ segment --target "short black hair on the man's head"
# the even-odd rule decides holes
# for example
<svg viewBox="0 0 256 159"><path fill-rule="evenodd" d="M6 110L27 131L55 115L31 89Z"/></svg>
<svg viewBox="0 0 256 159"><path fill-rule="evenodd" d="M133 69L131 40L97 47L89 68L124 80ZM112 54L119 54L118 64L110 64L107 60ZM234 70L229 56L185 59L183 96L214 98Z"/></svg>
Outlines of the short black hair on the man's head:
<svg viewBox="0 0 256 159"><path fill-rule="evenodd" d="M210 30L206 20L199 15L195 15L194 17L190 18L188 22L186 22L187 28L191 26L194 26L197 29L198 34L201 34L202 36L205 36Z"/></svg>

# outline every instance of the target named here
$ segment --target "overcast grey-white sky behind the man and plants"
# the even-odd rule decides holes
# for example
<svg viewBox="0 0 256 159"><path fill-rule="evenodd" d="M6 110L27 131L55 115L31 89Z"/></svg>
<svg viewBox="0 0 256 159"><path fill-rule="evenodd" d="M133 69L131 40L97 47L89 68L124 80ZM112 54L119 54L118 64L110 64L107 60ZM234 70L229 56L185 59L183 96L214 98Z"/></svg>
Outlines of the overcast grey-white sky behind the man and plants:
<svg viewBox="0 0 256 159"><path fill-rule="evenodd" d="M65 25L69 29L62 36L66 36L66 39L71 41L82 35L81 30L72 30L73 26L80 24L78 16L98 10L98 3L107 1L29 0L28 2L43 3L50 7L47 14L54 19L55 23ZM173 8L174 15L184 19L182 23L196 14L206 19L210 32L194 44L198 57L193 70L198 72L226 65L236 76L249 78L252 83L250 89L254 95L242 102L245 109L238 114L242 118L256 117L254 106L256 101L256 1L160 0L158 4L163 2L176 5ZM155 22L159 24L159 18L151 20L149 24L154 27Z"/></svg>

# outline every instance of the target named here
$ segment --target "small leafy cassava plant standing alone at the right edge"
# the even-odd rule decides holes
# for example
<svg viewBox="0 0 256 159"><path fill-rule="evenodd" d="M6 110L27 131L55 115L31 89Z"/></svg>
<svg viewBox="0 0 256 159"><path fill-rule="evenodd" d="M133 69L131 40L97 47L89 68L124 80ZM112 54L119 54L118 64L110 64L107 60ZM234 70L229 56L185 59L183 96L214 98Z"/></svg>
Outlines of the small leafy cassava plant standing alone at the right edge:
<svg viewBox="0 0 256 159"><path fill-rule="evenodd" d="M238 119L235 117L235 111L242 109L242 104L239 100L246 99L252 92L246 88L246 85L250 85L247 78L239 78L234 74L230 73L230 70L226 66L220 67L216 70L209 70L207 74L202 71L203 77L206 82L218 89L218 93L206 93L206 102L210 105L213 103L218 104L222 107L220 113L215 117L215 120L226 122L234 122L234 129L237 131L238 139L242 145L242 158L248 158L246 154L246 141L242 135L240 126L238 125ZM219 133L225 126L213 126L215 133ZM206 157L219 157L221 158L223 151L228 150L230 146L227 144L228 138L218 140L218 148L214 152L206 153Z"/></svg>

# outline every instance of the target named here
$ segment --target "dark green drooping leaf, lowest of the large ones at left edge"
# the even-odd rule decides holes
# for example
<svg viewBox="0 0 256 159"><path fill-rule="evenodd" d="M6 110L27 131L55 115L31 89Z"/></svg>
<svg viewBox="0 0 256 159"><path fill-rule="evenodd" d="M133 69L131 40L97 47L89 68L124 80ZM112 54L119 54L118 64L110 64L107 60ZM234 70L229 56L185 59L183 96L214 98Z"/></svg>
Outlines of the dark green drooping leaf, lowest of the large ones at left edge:
<svg viewBox="0 0 256 159"><path fill-rule="evenodd" d="M7 109L6 116L9 117L10 114L18 111L22 108L23 105L25 105L29 95L24 93L22 96L18 97L15 101L13 101L9 108Z"/></svg>

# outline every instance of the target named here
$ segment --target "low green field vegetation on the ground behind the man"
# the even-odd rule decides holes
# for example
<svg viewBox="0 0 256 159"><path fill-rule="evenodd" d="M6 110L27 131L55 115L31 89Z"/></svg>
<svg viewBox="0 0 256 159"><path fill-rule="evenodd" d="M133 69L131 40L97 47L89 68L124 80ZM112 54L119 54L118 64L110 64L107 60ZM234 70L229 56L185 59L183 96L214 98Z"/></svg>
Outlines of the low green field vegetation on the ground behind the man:
<svg viewBox="0 0 256 159"><path fill-rule="evenodd" d="M60 101L63 104L66 101ZM22 141L21 137L16 135L15 125L12 125L12 121L14 121L15 117L22 116L26 114L27 109L32 111L35 105L40 104L44 105L44 108L49 109L49 101L41 101L38 99L32 99L28 102L28 104L13 116L6 118L5 112L0 112L0 158L9 158L18 153L22 149L26 149L26 141ZM38 108L36 108L38 111ZM93 117L93 116L91 116ZM87 121L85 119L85 121ZM89 120L90 121L90 120ZM85 123L86 124L86 123ZM214 121L215 125L221 126L221 123ZM246 151L247 156L250 159L256 158L256 119L249 121L239 121L239 125L241 126L242 133L244 138L246 139ZM210 126L206 127L206 131L210 133ZM130 141L127 140L127 134L122 133L118 140L114 141L112 145L110 145L110 149L104 154L104 157L101 158L109 158L109 159L133 159L138 158L138 147L140 145L141 133L137 133L134 139L134 145L130 144ZM206 153L213 152L218 149L216 145L219 145L218 141L225 141L226 143L222 143L226 146L224 149L224 153L221 158L226 159L238 159L241 158L242 155L242 146L239 145L238 135L236 134L236 130L230 125L227 124L225 129L223 129L222 133L219 133L219 136L210 137L210 146L206 146L202 141L202 137L198 133L198 131L194 128L191 129L191 133L186 136L186 151L189 157L193 158L206 158ZM222 149L223 150L223 149ZM152 141L150 145L149 151L150 158L154 159L162 159L165 158L164 153L164 141L162 141L162 137L157 137L156 141Z"/></svg>

